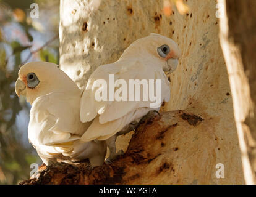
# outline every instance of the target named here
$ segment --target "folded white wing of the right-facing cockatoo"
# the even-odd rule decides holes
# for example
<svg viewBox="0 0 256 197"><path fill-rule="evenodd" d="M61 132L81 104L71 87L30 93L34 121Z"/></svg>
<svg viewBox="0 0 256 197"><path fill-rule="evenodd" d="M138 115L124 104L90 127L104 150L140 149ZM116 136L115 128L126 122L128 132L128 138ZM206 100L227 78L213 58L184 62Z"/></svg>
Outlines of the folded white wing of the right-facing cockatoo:
<svg viewBox="0 0 256 197"><path fill-rule="evenodd" d="M116 132L121 131L124 126L134 121L135 118L142 118L148 111L153 110L153 108L150 108L150 104L155 103L155 101L143 101L142 90L140 91L140 101L114 100L113 102L97 102L94 98L97 88L93 89L93 82L96 79L105 79L106 82L108 82L109 74L115 74L115 80L124 79L126 84L129 84L129 79L139 79L140 81L142 79L147 79L147 81L148 79L161 79L162 98L161 102L158 103L159 106L156 108L161 106L163 100L166 102L169 101L169 81L166 78L163 69L159 66L152 65L150 62L145 63L145 60L120 61L113 63L112 65L100 66L95 73L90 76L87 88L83 92L81 99L81 121L89 121L95 118L88 130L83 134L82 140L108 139L116 134ZM156 80L154 85L156 89ZM127 90L128 89L129 87L127 87ZM100 108L103 110L99 111Z"/></svg>

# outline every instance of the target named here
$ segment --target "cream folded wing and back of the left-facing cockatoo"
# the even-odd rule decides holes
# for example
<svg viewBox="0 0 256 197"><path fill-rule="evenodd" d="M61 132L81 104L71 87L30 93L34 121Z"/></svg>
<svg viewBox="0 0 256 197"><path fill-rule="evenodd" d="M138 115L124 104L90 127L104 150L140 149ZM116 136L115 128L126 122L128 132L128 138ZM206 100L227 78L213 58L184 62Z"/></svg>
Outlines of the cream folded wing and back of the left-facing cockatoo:
<svg viewBox="0 0 256 197"><path fill-rule="evenodd" d="M38 97L30 110L28 138L33 145L70 142L82 135L79 95L50 93Z"/></svg>

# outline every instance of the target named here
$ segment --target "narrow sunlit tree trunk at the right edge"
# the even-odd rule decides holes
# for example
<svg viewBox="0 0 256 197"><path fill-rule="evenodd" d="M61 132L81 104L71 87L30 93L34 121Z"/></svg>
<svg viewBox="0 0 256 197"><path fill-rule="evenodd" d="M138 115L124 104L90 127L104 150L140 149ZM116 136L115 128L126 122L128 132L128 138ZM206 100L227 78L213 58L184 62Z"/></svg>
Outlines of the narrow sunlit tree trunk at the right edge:
<svg viewBox="0 0 256 197"><path fill-rule="evenodd" d="M220 38L233 94L234 117L242 153L245 182L256 172L256 2L221 0Z"/></svg>

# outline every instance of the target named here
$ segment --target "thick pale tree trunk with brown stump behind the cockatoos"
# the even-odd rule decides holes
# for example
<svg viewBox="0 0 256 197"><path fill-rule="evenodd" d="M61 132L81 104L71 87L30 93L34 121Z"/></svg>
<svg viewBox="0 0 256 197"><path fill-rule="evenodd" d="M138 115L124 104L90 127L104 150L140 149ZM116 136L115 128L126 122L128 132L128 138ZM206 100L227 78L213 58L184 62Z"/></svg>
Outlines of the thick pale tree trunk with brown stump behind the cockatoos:
<svg viewBox="0 0 256 197"><path fill-rule="evenodd" d="M171 100L162 109L169 112L119 137L124 156L95 169L85 163L49 166L23 183L244 183L216 3L187 1L187 14L174 8L166 16L161 0L62 0L61 69L81 88L95 68L116 61L150 33L174 39L182 57L169 76Z"/></svg>

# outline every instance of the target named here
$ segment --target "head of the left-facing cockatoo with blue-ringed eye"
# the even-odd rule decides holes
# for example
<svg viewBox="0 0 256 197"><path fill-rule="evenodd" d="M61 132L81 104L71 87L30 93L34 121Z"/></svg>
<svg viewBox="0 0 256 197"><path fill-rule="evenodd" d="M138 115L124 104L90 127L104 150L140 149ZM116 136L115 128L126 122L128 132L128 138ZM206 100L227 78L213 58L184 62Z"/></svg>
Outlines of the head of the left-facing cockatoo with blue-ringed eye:
<svg viewBox="0 0 256 197"><path fill-rule="evenodd" d="M19 70L15 92L23 95L32 104L41 95L51 92L75 91L79 89L58 65L49 62L30 62Z"/></svg>

